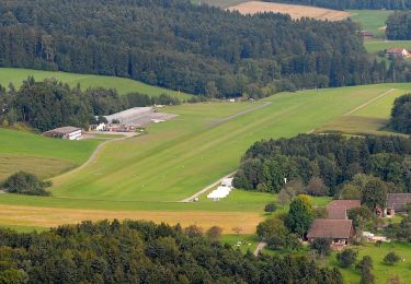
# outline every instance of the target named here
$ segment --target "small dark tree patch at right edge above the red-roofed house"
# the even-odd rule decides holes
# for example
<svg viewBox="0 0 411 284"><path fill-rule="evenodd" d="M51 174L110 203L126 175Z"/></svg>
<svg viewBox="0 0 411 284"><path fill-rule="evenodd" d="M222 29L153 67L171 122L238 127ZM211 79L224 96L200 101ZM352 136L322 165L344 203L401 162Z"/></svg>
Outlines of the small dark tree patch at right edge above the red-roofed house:
<svg viewBox="0 0 411 284"><path fill-rule="evenodd" d="M391 40L411 39L411 12L396 11L387 19L387 38Z"/></svg>

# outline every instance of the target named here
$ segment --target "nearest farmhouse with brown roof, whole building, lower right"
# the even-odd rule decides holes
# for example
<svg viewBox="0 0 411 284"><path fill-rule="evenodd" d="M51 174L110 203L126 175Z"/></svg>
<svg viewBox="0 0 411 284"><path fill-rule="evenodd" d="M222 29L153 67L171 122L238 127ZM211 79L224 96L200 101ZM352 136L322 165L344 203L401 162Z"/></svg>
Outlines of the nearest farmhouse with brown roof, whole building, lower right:
<svg viewBox="0 0 411 284"><path fill-rule="evenodd" d="M355 229L351 220L316 218L307 233L309 241L317 238L331 238L334 249L343 248L354 236Z"/></svg>

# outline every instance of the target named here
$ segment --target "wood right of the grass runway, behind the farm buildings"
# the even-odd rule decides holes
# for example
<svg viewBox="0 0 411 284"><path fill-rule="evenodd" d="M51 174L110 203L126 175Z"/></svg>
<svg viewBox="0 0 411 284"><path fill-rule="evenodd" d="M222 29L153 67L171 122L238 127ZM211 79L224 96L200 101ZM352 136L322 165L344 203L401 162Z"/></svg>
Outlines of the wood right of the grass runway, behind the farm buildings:
<svg viewBox="0 0 411 284"><path fill-rule="evenodd" d="M260 141L243 156L235 186L278 192L287 178L300 181L300 193L340 197L342 190L361 189L373 180L386 191L409 192L410 155L411 140L399 137L300 134Z"/></svg>

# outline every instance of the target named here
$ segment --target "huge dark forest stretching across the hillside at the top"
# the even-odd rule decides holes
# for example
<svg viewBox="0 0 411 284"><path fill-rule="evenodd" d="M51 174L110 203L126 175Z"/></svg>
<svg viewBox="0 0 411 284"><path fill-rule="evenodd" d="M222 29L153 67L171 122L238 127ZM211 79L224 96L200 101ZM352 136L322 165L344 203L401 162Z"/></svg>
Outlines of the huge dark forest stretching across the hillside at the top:
<svg viewBox="0 0 411 284"><path fill-rule="evenodd" d="M351 21L244 16L189 0L1 1L0 15L0 67L218 97L411 80L409 63L373 61Z"/></svg>

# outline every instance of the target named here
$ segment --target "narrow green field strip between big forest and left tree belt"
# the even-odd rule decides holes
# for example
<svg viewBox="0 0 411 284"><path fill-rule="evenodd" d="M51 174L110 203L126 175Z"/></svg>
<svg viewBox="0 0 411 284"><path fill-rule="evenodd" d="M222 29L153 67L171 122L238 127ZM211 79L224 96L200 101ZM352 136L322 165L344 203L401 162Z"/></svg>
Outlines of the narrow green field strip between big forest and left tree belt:
<svg viewBox="0 0 411 284"><path fill-rule="evenodd" d="M66 72L41 71L18 68L0 68L0 84L3 86L8 86L10 83L13 83L14 86L20 86L23 80L26 80L27 76L34 76L34 79L37 81L55 78L61 82L69 84L71 87L77 86L77 84L80 84L82 88L96 86L105 88L116 88L119 94L127 94L132 92L138 92L141 94L147 94L149 96L159 96L161 94L168 94L170 96L179 97L181 99L186 99L192 96L183 92L179 93L176 91L152 86L141 83L139 81L124 78L75 74Z"/></svg>

